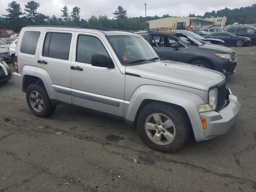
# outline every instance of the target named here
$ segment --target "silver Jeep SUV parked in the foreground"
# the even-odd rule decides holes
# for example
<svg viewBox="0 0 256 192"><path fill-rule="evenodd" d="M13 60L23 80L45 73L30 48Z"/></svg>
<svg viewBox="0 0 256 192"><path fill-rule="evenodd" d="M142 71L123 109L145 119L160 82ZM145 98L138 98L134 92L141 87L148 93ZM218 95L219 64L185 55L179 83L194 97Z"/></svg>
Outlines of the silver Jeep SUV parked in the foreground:
<svg viewBox="0 0 256 192"><path fill-rule="evenodd" d="M22 28L14 82L30 110L51 115L68 103L124 119L151 148L174 152L228 132L240 110L213 70L164 60L126 31L60 26Z"/></svg>

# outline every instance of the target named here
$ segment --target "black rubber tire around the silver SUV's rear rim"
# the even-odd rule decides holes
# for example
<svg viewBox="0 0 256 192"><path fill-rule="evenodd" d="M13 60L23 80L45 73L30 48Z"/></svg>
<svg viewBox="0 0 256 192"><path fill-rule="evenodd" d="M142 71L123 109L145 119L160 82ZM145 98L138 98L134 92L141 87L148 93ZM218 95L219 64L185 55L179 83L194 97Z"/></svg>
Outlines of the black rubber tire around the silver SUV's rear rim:
<svg viewBox="0 0 256 192"><path fill-rule="evenodd" d="M40 111L40 112L36 111L33 108L32 104L30 103L30 94L33 91L38 92L44 102L44 106L42 108L42 111ZM30 86L28 86L28 89L26 91L26 100L27 100L28 107L30 108L30 110L38 117L46 118L46 117L50 116L51 114L53 114L54 111L56 110L56 106L52 105L52 103L50 102L50 98L49 98L47 91L44 88L43 84L36 83L36 84L31 84Z"/></svg>

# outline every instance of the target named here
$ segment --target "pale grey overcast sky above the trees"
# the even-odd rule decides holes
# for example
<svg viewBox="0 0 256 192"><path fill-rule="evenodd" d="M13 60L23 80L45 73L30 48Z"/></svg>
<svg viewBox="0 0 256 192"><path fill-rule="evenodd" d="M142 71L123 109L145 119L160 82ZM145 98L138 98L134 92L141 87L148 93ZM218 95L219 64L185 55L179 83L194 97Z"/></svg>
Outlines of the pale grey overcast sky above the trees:
<svg viewBox="0 0 256 192"><path fill-rule="evenodd" d="M0 14L6 14L6 8L12 0L0 0ZM24 10L24 4L29 0L16 0ZM113 17L113 12L118 6L127 10L128 17L145 16L145 6L147 4L148 16L162 16L169 14L171 16L188 16L190 13L203 15L205 12L219 10L225 7L237 8L250 6L255 0L35 0L40 3L38 12L52 16L61 16L60 9L66 5L69 11L74 6L81 8L81 18L90 18L92 15L107 15ZM178 3L180 2L180 4Z"/></svg>

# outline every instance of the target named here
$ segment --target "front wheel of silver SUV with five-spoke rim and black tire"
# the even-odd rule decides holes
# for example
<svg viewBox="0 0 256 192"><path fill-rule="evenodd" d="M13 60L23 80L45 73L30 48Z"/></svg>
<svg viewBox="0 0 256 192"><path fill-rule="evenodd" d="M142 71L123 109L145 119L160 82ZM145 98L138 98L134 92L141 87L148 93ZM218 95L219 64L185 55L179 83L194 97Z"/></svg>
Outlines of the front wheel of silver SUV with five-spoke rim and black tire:
<svg viewBox="0 0 256 192"><path fill-rule="evenodd" d="M152 149L175 152L186 144L190 135L188 116L181 108L162 102L145 106L137 119L142 140Z"/></svg>

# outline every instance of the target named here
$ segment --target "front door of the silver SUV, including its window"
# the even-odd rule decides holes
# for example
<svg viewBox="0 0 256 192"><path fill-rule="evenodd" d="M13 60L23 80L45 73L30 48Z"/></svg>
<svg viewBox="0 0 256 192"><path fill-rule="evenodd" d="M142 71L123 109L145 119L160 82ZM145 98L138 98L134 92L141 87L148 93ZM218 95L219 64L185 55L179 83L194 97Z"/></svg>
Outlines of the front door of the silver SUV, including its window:
<svg viewBox="0 0 256 192"><path fill-rule="evenodd" d="M96 34L76 32L71 62L72 103L85 108L124 116L124 81L106 44ZM92 55L102 54L114 68L92 66Z"/></svg>

